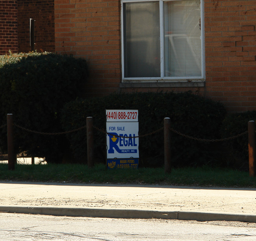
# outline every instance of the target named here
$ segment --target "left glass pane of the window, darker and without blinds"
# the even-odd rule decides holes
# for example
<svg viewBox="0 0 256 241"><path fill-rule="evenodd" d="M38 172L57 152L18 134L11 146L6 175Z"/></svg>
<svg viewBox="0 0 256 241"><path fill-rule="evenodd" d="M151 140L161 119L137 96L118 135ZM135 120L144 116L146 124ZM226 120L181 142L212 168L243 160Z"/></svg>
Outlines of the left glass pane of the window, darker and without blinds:
<svg viewBox="0 0 256 241"><path fill-rule="evenodd" d="M124 76L160 77L159 2L124 4Z"/></svg>

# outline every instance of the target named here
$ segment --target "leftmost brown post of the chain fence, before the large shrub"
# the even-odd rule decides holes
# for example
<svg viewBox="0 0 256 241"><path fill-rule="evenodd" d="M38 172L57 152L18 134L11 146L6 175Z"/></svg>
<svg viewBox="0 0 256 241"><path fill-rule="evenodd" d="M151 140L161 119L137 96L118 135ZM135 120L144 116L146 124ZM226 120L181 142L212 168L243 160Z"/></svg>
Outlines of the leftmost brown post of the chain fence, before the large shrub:
<svg viewBox="0 0 256 241"><path fill-rule="evenodd" d="M15 154L13 145L13 114L7 114L7 151L8 151L8 169L15 168ZM16 159L17 162L17 159Z"/></svg>

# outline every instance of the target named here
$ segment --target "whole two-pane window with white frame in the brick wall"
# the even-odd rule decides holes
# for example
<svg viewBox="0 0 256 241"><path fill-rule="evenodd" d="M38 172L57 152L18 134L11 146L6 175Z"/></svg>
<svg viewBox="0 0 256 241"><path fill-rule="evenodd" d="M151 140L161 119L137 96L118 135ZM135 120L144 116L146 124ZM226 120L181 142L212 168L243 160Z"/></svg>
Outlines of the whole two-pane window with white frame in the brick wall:
<svg viewBox="0 0 256 241"><path fill-rule="evenodd" d="M124 81L203 79L201 2L122 0Z"/></svg>

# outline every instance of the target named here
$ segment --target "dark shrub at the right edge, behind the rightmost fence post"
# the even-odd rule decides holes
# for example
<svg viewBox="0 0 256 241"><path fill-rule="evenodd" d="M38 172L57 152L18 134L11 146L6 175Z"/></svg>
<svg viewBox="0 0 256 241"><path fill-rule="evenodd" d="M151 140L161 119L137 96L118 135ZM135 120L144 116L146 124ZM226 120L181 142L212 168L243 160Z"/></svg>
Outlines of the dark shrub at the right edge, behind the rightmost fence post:
<svg viewBox="0 0 256 241"><path fill-rule="evenodd" d="M248 121L256 120L256 111L228 114L223 121L223 137L236 136L248 130ZM226 142L228 166L248 170L248 134Z"/></svg>

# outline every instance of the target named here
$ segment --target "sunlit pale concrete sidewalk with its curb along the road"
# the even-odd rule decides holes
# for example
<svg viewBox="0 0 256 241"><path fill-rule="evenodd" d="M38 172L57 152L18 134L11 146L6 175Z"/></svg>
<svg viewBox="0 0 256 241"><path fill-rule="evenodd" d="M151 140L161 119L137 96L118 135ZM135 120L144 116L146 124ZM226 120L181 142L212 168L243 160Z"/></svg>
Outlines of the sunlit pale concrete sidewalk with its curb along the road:
<svg viewBox="0 0 256 241"><path fill-rule="evenodd" d="M0 182L0 212L256 223L256 189Z"/></svg>

